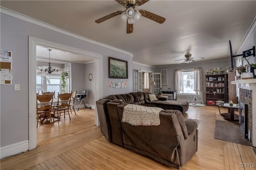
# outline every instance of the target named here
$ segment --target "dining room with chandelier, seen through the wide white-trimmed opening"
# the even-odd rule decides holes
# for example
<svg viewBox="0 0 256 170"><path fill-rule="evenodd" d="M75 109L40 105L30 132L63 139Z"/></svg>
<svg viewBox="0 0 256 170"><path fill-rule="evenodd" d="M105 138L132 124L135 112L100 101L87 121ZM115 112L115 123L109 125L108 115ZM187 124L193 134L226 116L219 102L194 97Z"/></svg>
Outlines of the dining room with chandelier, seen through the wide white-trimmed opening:
<svg viewBox="0 0 256 170"><path fill-rule="evenodd" d="M51 106L49 112L37 115L38 139L42 133L60 130L60 127L75 121L79 117L78 113L81 113L79 108L88 108L90 113L95 114L94 62L93 57L48 46L36 46L35 93L37 96L53 94L53 98L48 101ZM63 106L63 94L69 96L66 106ZM40 107L40 101L37 102L37 107Z"/></svg>

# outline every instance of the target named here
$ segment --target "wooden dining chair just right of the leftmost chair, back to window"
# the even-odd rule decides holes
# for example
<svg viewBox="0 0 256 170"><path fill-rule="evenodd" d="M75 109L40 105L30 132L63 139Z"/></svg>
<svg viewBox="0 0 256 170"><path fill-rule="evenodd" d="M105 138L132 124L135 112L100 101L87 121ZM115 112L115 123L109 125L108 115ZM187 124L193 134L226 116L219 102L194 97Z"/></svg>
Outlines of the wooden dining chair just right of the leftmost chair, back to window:
<svg viewBox="0 0 256 170"><path fill-rule="evenodd" d="M71 93L64 93L64 94L59 94L59 92L58 92L58 104L57 104L57 107L54 107L54 117L55 117L55 112L56 112L56 114L58 116L58 121L60 121L61 113L64 113L64 118L65 118L65 115L68 114L69 119L71 120L70 114L69 114L71 94L72 94L72 91L71 91ZM66 111L68 111L68 113L66 113ZM54 118L53 118L53 120L54 120Z"/></svg>

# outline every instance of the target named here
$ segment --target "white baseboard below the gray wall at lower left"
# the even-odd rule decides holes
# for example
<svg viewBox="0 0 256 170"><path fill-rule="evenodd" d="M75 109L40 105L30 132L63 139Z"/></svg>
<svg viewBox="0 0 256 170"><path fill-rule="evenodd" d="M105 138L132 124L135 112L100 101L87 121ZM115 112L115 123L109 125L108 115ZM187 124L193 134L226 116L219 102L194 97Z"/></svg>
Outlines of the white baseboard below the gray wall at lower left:
<svg viewBox="0 0 256 170"><path fill-rule="evenodd" d="M28 140L1 147L0 158L16 155L28 151Z"/></svg>

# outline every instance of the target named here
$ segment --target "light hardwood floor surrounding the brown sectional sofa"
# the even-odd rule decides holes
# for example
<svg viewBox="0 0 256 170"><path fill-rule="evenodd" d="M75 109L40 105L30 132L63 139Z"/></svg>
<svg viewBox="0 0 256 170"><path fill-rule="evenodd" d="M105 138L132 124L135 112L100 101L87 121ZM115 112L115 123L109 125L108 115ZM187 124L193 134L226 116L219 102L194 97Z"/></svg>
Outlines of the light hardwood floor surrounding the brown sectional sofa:
<svg viewBox="0 0 256 170"><path fill-rule="evenodd" d="M190 106L184 117L199 119L198 151L181 170L256 169L252 147L214 139L215 120L224 120L218 107ZM247 163L250 167L241 167ZM108 143L94 125L94 110L81 108L54 123L38 125L36 149L2 159L5 169L174 169L147 156Z"/></svg>

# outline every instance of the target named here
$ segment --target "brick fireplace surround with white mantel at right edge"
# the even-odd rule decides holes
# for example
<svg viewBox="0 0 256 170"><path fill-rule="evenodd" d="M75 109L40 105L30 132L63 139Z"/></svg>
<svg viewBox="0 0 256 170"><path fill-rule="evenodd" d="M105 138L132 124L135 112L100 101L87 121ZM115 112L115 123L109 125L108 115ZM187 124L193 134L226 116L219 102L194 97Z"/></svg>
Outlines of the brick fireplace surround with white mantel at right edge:
<svg viewBox="0 0 256 170"><path fill-rule="evenodd" d="M248 104L248 129L251 131L251 143L256 147L256 78L246 80L232 81L231 84L237 84L239 88L239 98ZM246 90L249 91L248 98Z"/></svg>

